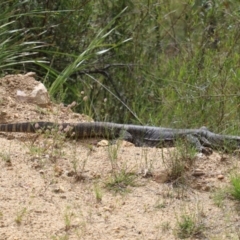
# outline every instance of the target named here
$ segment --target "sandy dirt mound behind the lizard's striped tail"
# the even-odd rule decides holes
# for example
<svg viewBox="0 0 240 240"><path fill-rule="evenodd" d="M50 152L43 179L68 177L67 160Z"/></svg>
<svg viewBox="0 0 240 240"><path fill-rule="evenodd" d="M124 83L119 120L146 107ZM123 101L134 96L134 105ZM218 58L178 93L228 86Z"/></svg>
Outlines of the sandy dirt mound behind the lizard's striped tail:
<svg viewBox="0 0 240 240"><path fill-rule="evenodd" d="M40 84L34 79L34 73L25 75L7 75L0 79L0 122L23 121L54 121L54 122L86 122L91 121L84 114L74 113L70 106L54 104L47 99L48 104L41 106L31 101L31 93ZM18 92L24 92L28 97L21 101ZM44 96L45 97L45 96ZM45 98L49 98L48 95ZM29 101L27 101L29 100ZM40 106L39 106L40 105Z"/></svg>

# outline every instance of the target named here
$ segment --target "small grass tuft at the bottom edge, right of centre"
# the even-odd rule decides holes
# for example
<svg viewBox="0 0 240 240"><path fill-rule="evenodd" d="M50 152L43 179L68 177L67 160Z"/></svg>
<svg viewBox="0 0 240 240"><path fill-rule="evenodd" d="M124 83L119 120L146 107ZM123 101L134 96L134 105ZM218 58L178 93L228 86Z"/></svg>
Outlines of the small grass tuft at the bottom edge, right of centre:
<svg viewBox="0 0 240 240"><path fill-rule="evenodd" d="M201 235L203 229L204 224L197 216L184 214L177 222L176 234L179 238L185 239Z"/></svg>

